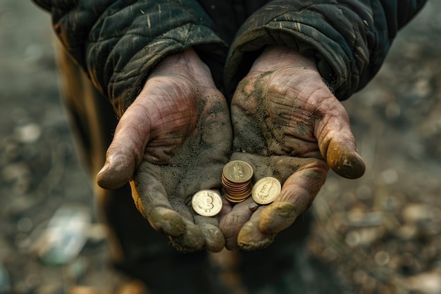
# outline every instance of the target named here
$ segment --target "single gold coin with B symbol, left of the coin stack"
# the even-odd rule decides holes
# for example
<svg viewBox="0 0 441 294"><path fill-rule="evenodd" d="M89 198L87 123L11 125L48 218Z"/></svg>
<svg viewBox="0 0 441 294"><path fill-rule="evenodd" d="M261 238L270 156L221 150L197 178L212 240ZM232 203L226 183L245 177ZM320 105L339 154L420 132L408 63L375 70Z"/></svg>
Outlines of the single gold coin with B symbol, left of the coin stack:
<svg viewBox="0 0 441 294"><path fill-rule="evenodd" d="M222 199L218 192L200 190L192 197L192 207L201 216L215 216L222 209Z"/></svg>

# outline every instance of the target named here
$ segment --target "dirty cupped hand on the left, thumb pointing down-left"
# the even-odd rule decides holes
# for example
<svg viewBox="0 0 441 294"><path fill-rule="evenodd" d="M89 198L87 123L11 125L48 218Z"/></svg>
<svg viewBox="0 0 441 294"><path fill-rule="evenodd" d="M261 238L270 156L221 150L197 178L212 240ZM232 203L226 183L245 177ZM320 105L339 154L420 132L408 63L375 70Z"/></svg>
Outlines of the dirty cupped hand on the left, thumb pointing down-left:
<svg viewBox="0 0 441 294"><path fill-rule="evenodd" d="M139 212L178 250L218 252L225 246L218 218L195 215L191 199L221 188L231 145L225 98L189 49L155 66L120 118L97 181L113 189L130 180Z"/></svg>

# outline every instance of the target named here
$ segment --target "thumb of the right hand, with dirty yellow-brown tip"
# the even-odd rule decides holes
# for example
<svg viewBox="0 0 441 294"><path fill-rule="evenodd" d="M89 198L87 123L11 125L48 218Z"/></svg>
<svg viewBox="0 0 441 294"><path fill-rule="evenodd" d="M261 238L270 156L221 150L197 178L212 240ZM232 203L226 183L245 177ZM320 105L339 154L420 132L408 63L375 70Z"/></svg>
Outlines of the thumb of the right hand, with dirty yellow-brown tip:
<svg viewBox="0 0 441 294"><path fill-rule="evenodd" d="M321 154L335 173L344 178L363 176L366 166L357 152L349 117L335 97L323 99L318 106L315 135Z"/></svg>

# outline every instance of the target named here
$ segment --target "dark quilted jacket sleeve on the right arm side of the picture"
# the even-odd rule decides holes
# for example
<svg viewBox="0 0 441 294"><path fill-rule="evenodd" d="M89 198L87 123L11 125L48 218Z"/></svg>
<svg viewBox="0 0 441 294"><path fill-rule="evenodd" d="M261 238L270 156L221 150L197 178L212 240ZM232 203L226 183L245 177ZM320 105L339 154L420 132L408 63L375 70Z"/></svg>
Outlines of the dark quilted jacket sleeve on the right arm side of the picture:
<svg viewBox="0 0 441 294"><path fill-rule="evenodd" d="M378 72L397 31L424 0L274 0L242 25L225 67L229 91L268 44L316 59L323 79L349 98Z"/></svg>

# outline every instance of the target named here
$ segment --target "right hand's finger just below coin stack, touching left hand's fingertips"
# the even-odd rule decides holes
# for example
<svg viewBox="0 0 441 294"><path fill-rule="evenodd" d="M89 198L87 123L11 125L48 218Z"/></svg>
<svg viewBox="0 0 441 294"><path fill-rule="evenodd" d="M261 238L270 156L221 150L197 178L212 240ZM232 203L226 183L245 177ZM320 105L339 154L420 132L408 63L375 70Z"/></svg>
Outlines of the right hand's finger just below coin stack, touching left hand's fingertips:
<svg viewBox="0 0 441 294"><path fill-rule="evenodd" d="M235 204L228 214L221 217L219 227L225 236L225 248L228 250L238 250L237 236L239 231L247 221L249 221L251 214L256 211L258 205L251 197L243 202Z"/></svg>

